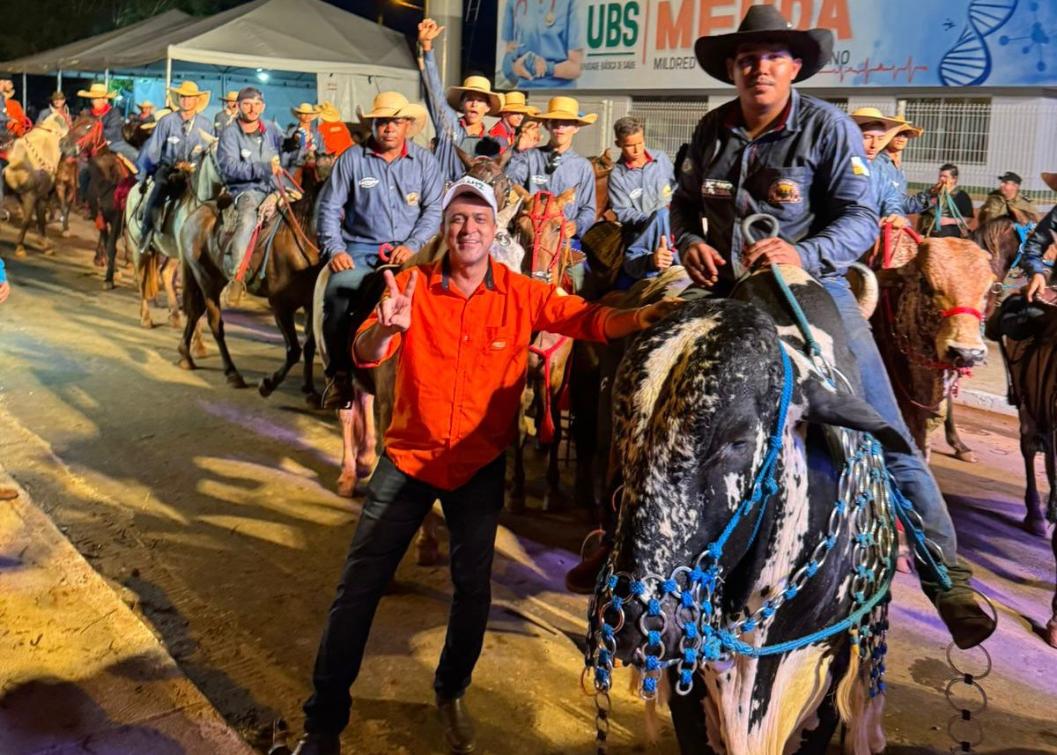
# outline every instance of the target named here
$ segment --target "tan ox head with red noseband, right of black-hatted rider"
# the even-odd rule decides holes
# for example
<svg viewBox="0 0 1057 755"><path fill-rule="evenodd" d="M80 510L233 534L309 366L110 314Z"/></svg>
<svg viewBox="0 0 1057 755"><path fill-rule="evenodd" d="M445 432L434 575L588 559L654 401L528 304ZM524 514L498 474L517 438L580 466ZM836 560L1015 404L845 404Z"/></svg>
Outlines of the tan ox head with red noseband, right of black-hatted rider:
<svg viewBox="0 0 1057 755"><path fill-rule="evenodd" d="M940 314L932 339L937 357L954 367L982 362L987 347L980 321L995 282L987 253L966 239L928 239L914 265L921 271L921 294Z"/></svg>

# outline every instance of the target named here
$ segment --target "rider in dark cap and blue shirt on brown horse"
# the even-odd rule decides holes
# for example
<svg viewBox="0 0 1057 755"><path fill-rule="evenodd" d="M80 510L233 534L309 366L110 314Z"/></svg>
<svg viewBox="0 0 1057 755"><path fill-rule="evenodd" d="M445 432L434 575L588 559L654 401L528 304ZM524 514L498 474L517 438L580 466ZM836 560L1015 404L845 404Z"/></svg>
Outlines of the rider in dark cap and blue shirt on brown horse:
<svg viewBox="0 0 1057 755"><path fill-rule="evenodd" d="M282 134L272 124L261 121L264 95L256 87L239 92L239 117L224 129L217 147L217 165L235 197L238 220L224 256L225 273L234 277L242 259L251 252L249 242L257 228L257 210L275 188L284 165L292 155L283 152ZM237 128L236 128L237 126Z"/></svg>

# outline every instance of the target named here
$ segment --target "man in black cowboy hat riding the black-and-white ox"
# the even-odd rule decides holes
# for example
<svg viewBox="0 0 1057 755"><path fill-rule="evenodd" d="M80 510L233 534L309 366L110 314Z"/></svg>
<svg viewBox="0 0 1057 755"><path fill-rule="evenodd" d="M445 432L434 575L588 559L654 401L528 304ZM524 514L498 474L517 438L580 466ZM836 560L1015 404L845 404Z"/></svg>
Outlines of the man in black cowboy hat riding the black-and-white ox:
<svg viewBox="0 0 1057 755"><path fill-rule="evenodd" d="M693 136L672 200L672 231L691 278L704 295L723 294L736 276L724 272L794 264L819 277L848 329L865 399L912 443L869 326L842 273L877 236L863 140L840 111L801 95L793 81L817 73L830 57L832 32L790 29L771 5L755 5L738 32L702 37L696 50L711 76L734 82L738 99L709 111ZM746 161L757 167L746 170ZM747 245L739 228L748 213L766 211L781 235ZM702 218L707 231L702 234ZM922 587L960 647L994 631L958 561L954 528L940 487L921 453L885 454L888 469L913 502L926 535L941 548L953 583L944 592L922 570Z"/></svg>

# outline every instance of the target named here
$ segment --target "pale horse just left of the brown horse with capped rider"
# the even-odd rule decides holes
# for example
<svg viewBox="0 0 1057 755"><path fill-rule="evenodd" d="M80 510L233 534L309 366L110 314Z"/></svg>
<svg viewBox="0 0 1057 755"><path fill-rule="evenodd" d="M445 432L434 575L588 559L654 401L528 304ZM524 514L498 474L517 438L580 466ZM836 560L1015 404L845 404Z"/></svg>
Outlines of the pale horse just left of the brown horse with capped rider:
<svg viewBox="0 0 1057 755"><path fill-rule="evenodd" d="M142 129L143 126L140 127ZM181 326L180 305L177 301L175 277L180 265L180 245L178 233L184 221L200 205L215 200L224 188L220 168L217 165L217 140L207 135L209 147L201 155L197 166L193 163L181 163L173 166L169 176L170 197L168 203L154 208L154 233L151 237L150 250L141 254L143 245L142 205L145 200L143 191L145 184L137 183L129 191L125 205L125 245L132 250L132 260L136 275L140 278L140 325L153 328L150 317L150 300L157 295L159 282L165 288L169 305L169 325ZM167 204L167 206L166 206ZM201 336L196 339L197 356L204 356Z"/></svg>

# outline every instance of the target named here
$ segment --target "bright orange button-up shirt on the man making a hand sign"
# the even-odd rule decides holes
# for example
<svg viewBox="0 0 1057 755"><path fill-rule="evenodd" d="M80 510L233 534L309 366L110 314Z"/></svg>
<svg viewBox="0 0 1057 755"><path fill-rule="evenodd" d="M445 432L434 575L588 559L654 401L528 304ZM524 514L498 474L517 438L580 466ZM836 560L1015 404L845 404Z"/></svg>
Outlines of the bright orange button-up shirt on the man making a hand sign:
<svg viewBox="0 0 1057 755"><path fill-rule="evenodd" d="M390 340L382 361L400 349L386 453L406 475L452 491L514 441L533 333L605 340L613 310L559 295L495 261L466 296L445 264L416 268L411 327ZM410 275L396 276L401 291ZM357 336L376 321L372 314Z"/></svg>

